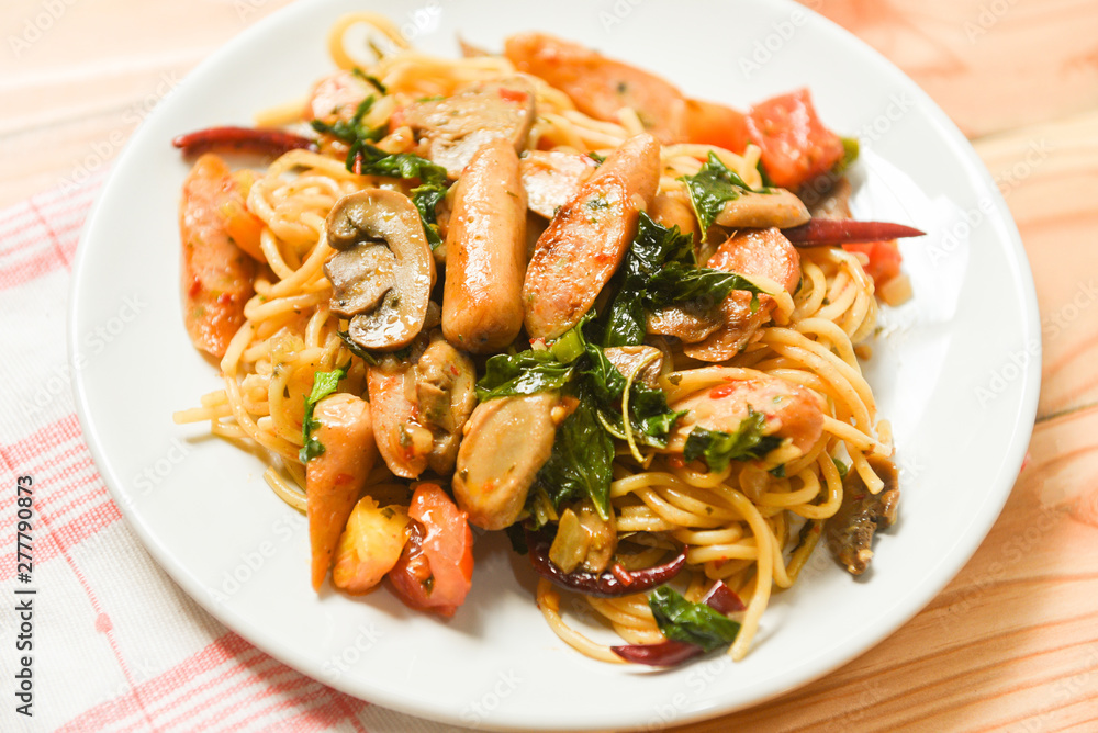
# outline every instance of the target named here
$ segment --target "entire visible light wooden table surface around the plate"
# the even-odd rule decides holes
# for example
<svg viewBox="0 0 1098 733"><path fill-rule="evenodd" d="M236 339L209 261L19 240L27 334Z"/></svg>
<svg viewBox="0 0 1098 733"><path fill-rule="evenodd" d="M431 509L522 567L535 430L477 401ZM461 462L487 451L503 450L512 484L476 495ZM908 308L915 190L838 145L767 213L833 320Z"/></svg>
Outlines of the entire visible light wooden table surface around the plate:
<svg viewBox="0 0 1098 733"><path fill-rule="evenodd" d="M102 170L189 69L287 3L5 0L0 206ZM1041 306L1038 419L1002 516L912 621L815 684L676 730L1098 730L1098 2L806 4L926 89L999 182Z"/></svg>

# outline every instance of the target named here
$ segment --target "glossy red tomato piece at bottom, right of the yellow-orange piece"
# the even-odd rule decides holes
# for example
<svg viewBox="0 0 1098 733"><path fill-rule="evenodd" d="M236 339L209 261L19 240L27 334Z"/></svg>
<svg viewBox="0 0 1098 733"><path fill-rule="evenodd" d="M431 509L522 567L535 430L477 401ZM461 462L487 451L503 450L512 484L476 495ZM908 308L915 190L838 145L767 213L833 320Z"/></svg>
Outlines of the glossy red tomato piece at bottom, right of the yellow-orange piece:
<svg viewBox="0 0 1098 733"><path fill-rule="evenodd" d="M412 494L408 517L408 539L389 579L410 608L449 618L472 586L469 515L438 484L419 484Z"/></svg>

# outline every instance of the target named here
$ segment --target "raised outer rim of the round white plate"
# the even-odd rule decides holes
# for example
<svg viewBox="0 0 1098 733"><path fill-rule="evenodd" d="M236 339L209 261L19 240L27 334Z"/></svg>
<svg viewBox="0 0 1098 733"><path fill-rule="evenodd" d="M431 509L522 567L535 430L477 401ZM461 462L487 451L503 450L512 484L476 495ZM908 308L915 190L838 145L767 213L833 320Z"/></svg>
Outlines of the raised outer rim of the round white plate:
<svg viewBox="0 0 1098 733"><path fill-rule="evenodd" d="M750 1L761 2L761 0ZM338 0L300 0L299 2L291 3L272 12L270 15L256 22L224 43L206 59L189 71L182 83L187 83L188 79L194 77L199 72L208 74L209 68L220 66L225 57L234 53L236 47L250 43L255 37L267 34L268 29L289 22L290 19L298 13L305 13L314 8L328 5L335 8L336 4L338 4ZM990 172L979 159L970 140L964 137L953 121L921 89L921 87L919 87L918 83L904 74L904 71L901 71L888 58L869 46L861 38L853 35L845 29L842 29L833 21L816 13L813 9L805 8L793 0L775 0L768 4L783 5L791 11L797 9L802 10L811 18L811 22L821 23L829 32L842 35L845 43L849 44L851 48L871 57L878 70L887 72L887 75L894 80L910 88L917 98L918 109L926 113L928 122L932 124L939 137L949 144L951 151L954 154L954 159L962 163L963 169L967 173L974 174L975 180L982 185L983 190L974 184L972 187L974 192L989 196L995 204L995 214L989 216L989 219L995 222L996 227L1002 235L1000 237L1000 239L1002 239L1002 250L1004 252L1010 255L1008 257L1009 269L1013 272L1018 285L1021 289L1021 292L1018 294L1021 295L1023 301L1022 309L1026 314L1026 318L1024 322L1020 324L1019 334L1026 339L1031 340L1035 338L1037 343L1040 345L1040 312L1038 311L1035 284L1032 277L1032 270L1022 245L1021 236L1018 232L1013 217L1009 213L1009 208L1006 206L1006 201L1002 194L995 184ZM170 105L158 105L157 109L153 111L152 115L164 114L164 110L167 106ZM266 638L256 638L255 634L250 633L253 630L247 624L246 618L237 613L231 606L220 605L212 600L205 588L202 587L201 582L188 571L184 563L182 563L177 555L175 555L161 543L157 535L152 531L150 527L146 523L141 512L126 500L126 495L121 488L124 485L124 482L121 480L121 476L116 475L114 465L112 464L108 453L104 451L96 416L90 411L89 407L89 385L86 383L87 374L85 370L78 366L82 357L80 354L80 332L78 332L77 324L79 323L81 295L85 295L83 291L87 287L87 283L85 282L85 272L88 267L87 261L91 257L89 252L92 251L92 235L97 230L98 221L102 217L102 210L105 206L103 202L111 198L108 194L113 190L113 187L119 185L117 172L132 165L130 158L132 157L136 143L144 138L148 127L149 125L143 124L141 128L132 135L120 154L117 161L111 167L108 179L101 184L101 188L96 195L96 202L83 224L80 241L74 260L72 279L69 290L69 304L67 308L68 320L66 325L66 346L68 351L68 363L74 373L74 402L80 421L80 427L83 431L85 441L88 444L89 451L96 462L97 470L103 477L103 481L110 490L112 499L115 501L130 528L135 532L135 534L137 534L145 550L149 553L149 555L152 555L159 567L163 568L192 600L194 600L204 611L209 612L226 628L239 634L250 644L260 649L269 656L287 664L295 670L299 670L301 674L317 680L322 685L333 687L352 697L366 699L362 691L356 689L355 686L350 684L352 677L341 676L335 680L325 679L322 674L320 661L298 654L292 647L289 646L274 646L269 643L269 640ZM1040 349L1040 346L1038 349ZM981 514L978 517L974 517L972 521L968 522L968 530L956 543L957 550L946 560L942 561L941 565L946 566L949 572L944 576L939 572L933 576L933 578L925 579L923 585L927 586L927 590L923 594L918 594L918 597L921 598L921 600L915 600L912 596L911 600L900 605L903 610L898 612L898 614L893 616L892 621L878 624L878 628L875 629L875 633L867 634L863 638L864 641L852 645L849 651L844 650L841 653L832 654L832 661L825 665L824 668L815 668L805 672L806 667L811 666L807 664L807 662L802 665L791 666L791 674L786 678L788 683L786 685L778 686L778 688L774 689L769 695L760 696L750 701L732 706L702 704L693 710L680 710L679 715L675 717L673 721L669 721L669 724L690 723L710 719L715 715L728 714L737 710L757 707L776 697L785 695L791 690L804 687L829 672L849 664L852 659L877 646L884 639L887 639L896 633L896 631L901 627L906 625L915 616L926 608L927 605L937 598L941 594L942 589L951 583L968 563L981 544L983 544L987 534L1001 515L1002 507L1006 505L1006 501L1011 494L1011 489L1017 481L1018 472L1021 469L1026 450L1032 436L1034 419L1037 417L1041 385L1041 371L1039 368L1034 369L1033 364L1040 364L1040 351L1038 351L1035 353L1035 358L1027 364L1023 370L1021 370L1023 373L1019 377L1021 381L1021 385L1019 387L1020 397L1017 404L1017 409L1013 410L1016 417L1013 430L1010 436L1009 444L1002 448L1002 459L999 463L998 471L988 480L989 488L985 500L982 503L982 506L986 506L988 511ZM797 673L798 669L802 670L799 674ZM406 698L389 695L385 690L371 690L370 700L376 701L385 708L397 710L418 718L450 724L466 724L466 721L460 720L456 712L446 712L436 709L416 707L415 704L410 704ZM514 721L496 721L490 719L482 721L481 724L486 728L495 728L497 730L515 730L513 723ZM643 725L645 723L640 720L640 718L635 718L625 722L620 720L597 720L593 721L592 724L595 726L606 724L637 726ZM554 725L552 728L540 728L535 725L524 728L523 730L586 730L587 728L587 725L568 726L567 729L559 725Z"/></svg>

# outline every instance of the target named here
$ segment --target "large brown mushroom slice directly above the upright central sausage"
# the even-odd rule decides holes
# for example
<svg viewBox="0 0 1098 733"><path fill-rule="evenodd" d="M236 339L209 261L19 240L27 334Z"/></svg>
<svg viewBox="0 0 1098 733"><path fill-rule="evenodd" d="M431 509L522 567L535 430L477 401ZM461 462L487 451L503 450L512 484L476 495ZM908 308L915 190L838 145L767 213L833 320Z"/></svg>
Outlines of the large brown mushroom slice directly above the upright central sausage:
<svg viewBox="0 0 1098 733"><path fill-rule="evenodd" d="M445 99L414 102L394 122L412 127L425 156L457 179L488 140L502 137L520 151L534 117L534 88L522 77L507 77L464 87Z"/></svg>

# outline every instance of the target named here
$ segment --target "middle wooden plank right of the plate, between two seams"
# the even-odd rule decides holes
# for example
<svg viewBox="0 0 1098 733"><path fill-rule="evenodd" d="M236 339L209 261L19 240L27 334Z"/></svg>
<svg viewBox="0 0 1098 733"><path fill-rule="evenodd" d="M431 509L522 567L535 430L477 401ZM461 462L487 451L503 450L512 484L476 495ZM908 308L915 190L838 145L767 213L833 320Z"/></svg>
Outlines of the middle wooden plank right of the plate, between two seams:
<svg viewBox="0 0 1098 733"><path fill-rule="evenodd" d="M1039 416L1098 402L1098 112L978 140L1029 255L1044 347Z"/></svg>

